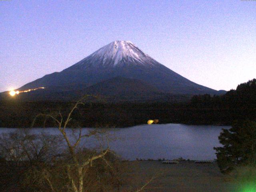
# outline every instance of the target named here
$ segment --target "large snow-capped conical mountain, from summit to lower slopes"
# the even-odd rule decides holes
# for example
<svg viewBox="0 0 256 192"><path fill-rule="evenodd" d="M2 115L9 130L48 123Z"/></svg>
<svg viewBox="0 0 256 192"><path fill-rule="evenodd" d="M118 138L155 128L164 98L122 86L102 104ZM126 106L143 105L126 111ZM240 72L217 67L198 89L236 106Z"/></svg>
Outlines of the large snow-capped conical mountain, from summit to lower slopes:
<svg viewBox="0 0 256 192"><path fill-rule="evenodd" d="M118 77L118 78L117 78ZM120 78L127 82L138 80L133 84L133 90L138 87L149 89L163 94L219 94L217 90L196 84L166 66L160 64L149 55L140 50L132 42L114 41L90 54L78 63L64 69L61 72L54 72L33 82L25 84L17 90L28 90L38 87L45 87L47 90L72 91L72 90L93 90L101 82L108 82L113 79L122 89ZM143 84L143 86L142 86ZM107 89L108 86L100 86ZM103 92L113 90L104 90ZM149 94L148 91L146 91Z"/></svg>

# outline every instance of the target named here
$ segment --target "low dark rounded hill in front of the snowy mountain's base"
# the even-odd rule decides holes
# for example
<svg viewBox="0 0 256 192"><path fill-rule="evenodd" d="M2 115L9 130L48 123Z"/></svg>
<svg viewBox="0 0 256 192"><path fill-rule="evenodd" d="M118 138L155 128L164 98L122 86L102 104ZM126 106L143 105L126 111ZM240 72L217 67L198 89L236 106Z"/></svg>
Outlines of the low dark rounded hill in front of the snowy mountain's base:
<svg viewBox="0 0 256 192"><path fill-rule="evenodd" d="M171 101L188 98L185 96L174 97L140 80L123 77L99 82L86 88L82 93L103 96L105 100L111 102Z"/></svg>

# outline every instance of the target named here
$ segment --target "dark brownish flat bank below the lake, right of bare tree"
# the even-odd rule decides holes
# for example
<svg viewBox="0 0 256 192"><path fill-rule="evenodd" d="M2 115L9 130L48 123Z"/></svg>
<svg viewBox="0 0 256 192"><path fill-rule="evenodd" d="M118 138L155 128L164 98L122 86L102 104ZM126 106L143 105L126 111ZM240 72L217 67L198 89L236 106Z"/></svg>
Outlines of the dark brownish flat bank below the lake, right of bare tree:
<svg viewBox="0 0 256 192"><path fill-rule="evenodd" d="M132 168L130 175L137 178L138 183L160 174L147 186L147 192L231 192L236 191L236 184L228 181L227 176L220 173L218 165L180 162L178 164L162 164L161 161L124 162Z"/></svg>

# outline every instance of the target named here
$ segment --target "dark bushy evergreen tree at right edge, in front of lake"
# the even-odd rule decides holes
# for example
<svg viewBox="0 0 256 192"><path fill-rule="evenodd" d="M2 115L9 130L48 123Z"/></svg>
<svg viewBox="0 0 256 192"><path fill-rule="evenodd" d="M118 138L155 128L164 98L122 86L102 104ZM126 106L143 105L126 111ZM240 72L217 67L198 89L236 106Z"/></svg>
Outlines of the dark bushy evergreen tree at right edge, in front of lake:
<svg viewBox="0 0 256 192"><path fill-rule="evenodd" d="M223 173L239 165L256 164L256 122L235 121L232 128L222 130L219 140L223 147L214 149Z"/></svg>

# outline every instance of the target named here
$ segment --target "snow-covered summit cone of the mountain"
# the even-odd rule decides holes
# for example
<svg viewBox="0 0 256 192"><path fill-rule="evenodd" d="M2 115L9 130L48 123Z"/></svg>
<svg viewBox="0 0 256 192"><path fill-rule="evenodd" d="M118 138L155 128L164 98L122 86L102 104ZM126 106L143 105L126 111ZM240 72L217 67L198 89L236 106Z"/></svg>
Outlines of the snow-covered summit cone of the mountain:
<svg viewBox="0 0 256 192"><path fill-rule="evenodd" d="M110 44L100 48L78 62L74 67L87 68L89 66L114 67L132 62L136 65L154 66L154 59L140 50L130 41L113 41ZM86 64L86 65L84 65Z"/></svg>

